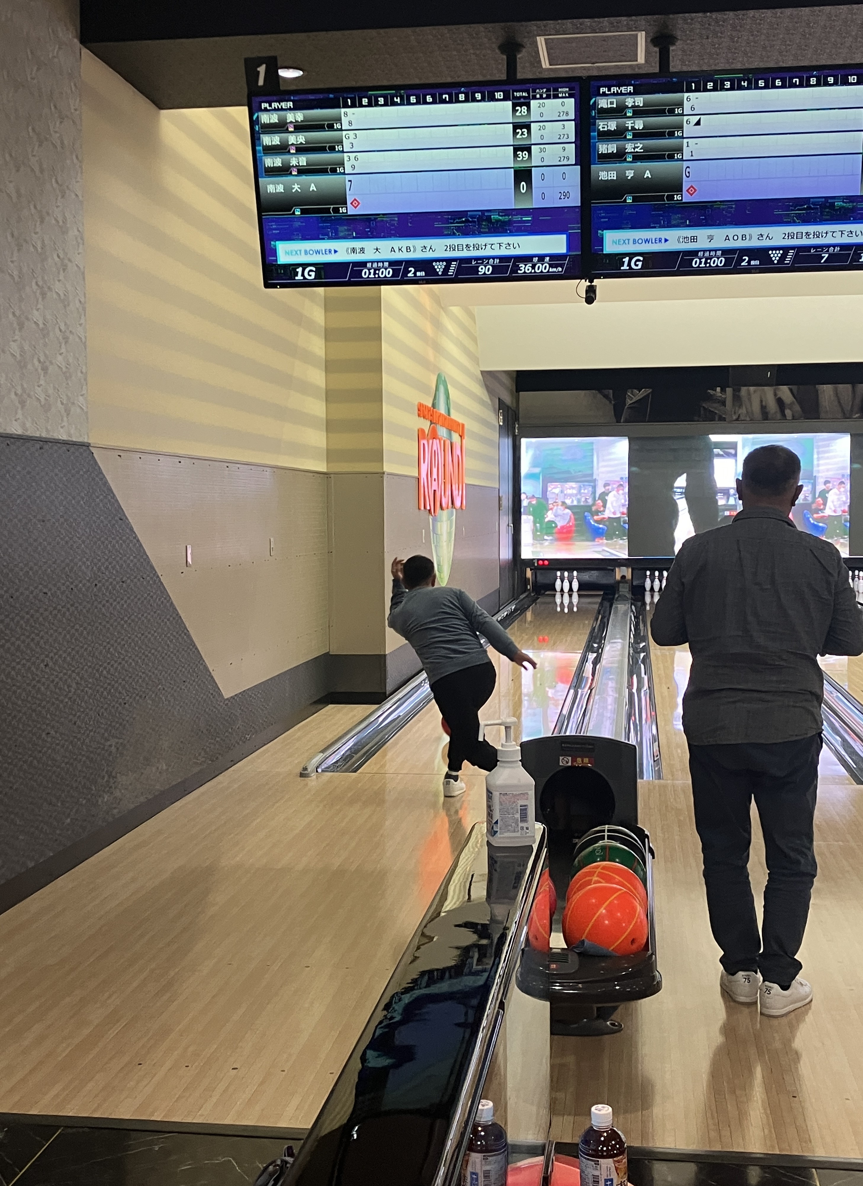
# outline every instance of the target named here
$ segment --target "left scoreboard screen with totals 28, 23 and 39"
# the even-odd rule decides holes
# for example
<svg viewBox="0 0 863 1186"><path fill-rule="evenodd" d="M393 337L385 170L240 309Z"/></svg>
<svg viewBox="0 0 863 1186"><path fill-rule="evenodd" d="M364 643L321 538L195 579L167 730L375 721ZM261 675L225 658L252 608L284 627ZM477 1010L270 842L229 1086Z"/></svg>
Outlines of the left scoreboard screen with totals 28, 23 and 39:
<svg viewBox="0 0 863 1186"><path fill-rule="evenodd" d="M250 95L264 285L581 275L577 81Z"/></svg>

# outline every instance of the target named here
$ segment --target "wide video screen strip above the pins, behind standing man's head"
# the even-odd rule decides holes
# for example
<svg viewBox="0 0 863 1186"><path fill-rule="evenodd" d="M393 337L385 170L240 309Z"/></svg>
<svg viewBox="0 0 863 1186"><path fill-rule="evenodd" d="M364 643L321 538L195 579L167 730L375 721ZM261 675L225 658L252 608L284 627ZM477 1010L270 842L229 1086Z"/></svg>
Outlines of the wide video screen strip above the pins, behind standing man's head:
<svg viewBox="0 0 863 1186"><path fill-rule="evenodd" d="M522 557L673 556L684 540L741 509L748 453L784 445L800 458L801 531L849 553L848 433L707 433L522 439Z"/></svg>

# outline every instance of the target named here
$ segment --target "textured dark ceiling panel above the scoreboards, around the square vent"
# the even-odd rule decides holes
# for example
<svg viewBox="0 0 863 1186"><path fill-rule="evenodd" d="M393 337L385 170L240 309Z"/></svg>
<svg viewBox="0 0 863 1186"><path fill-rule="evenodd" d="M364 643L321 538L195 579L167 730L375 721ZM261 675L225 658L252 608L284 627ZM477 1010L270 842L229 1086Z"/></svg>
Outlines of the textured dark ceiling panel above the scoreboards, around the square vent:
<svg viewBox="0 0 863 1186"><path fill-rule="evenodd" d="M91 44L89 49L156 107L236 107L245 103L243 58L252 55L274 53L282 65L300 66L305 74L293 89L469 83L504 77L505 63L498 45L514 36L524 45L519 58L520 76L551 81L565 78L573 71L543 70L537 36L631 30L644 30L648 43L647 60L641 68L631 68L633 72L657 70L656 50L650 46L650 38L659 30L671 30L678 37L672 51L672 65L677 70L863 62L863 9L857 5L279 37L115 42Z"/></svg>

